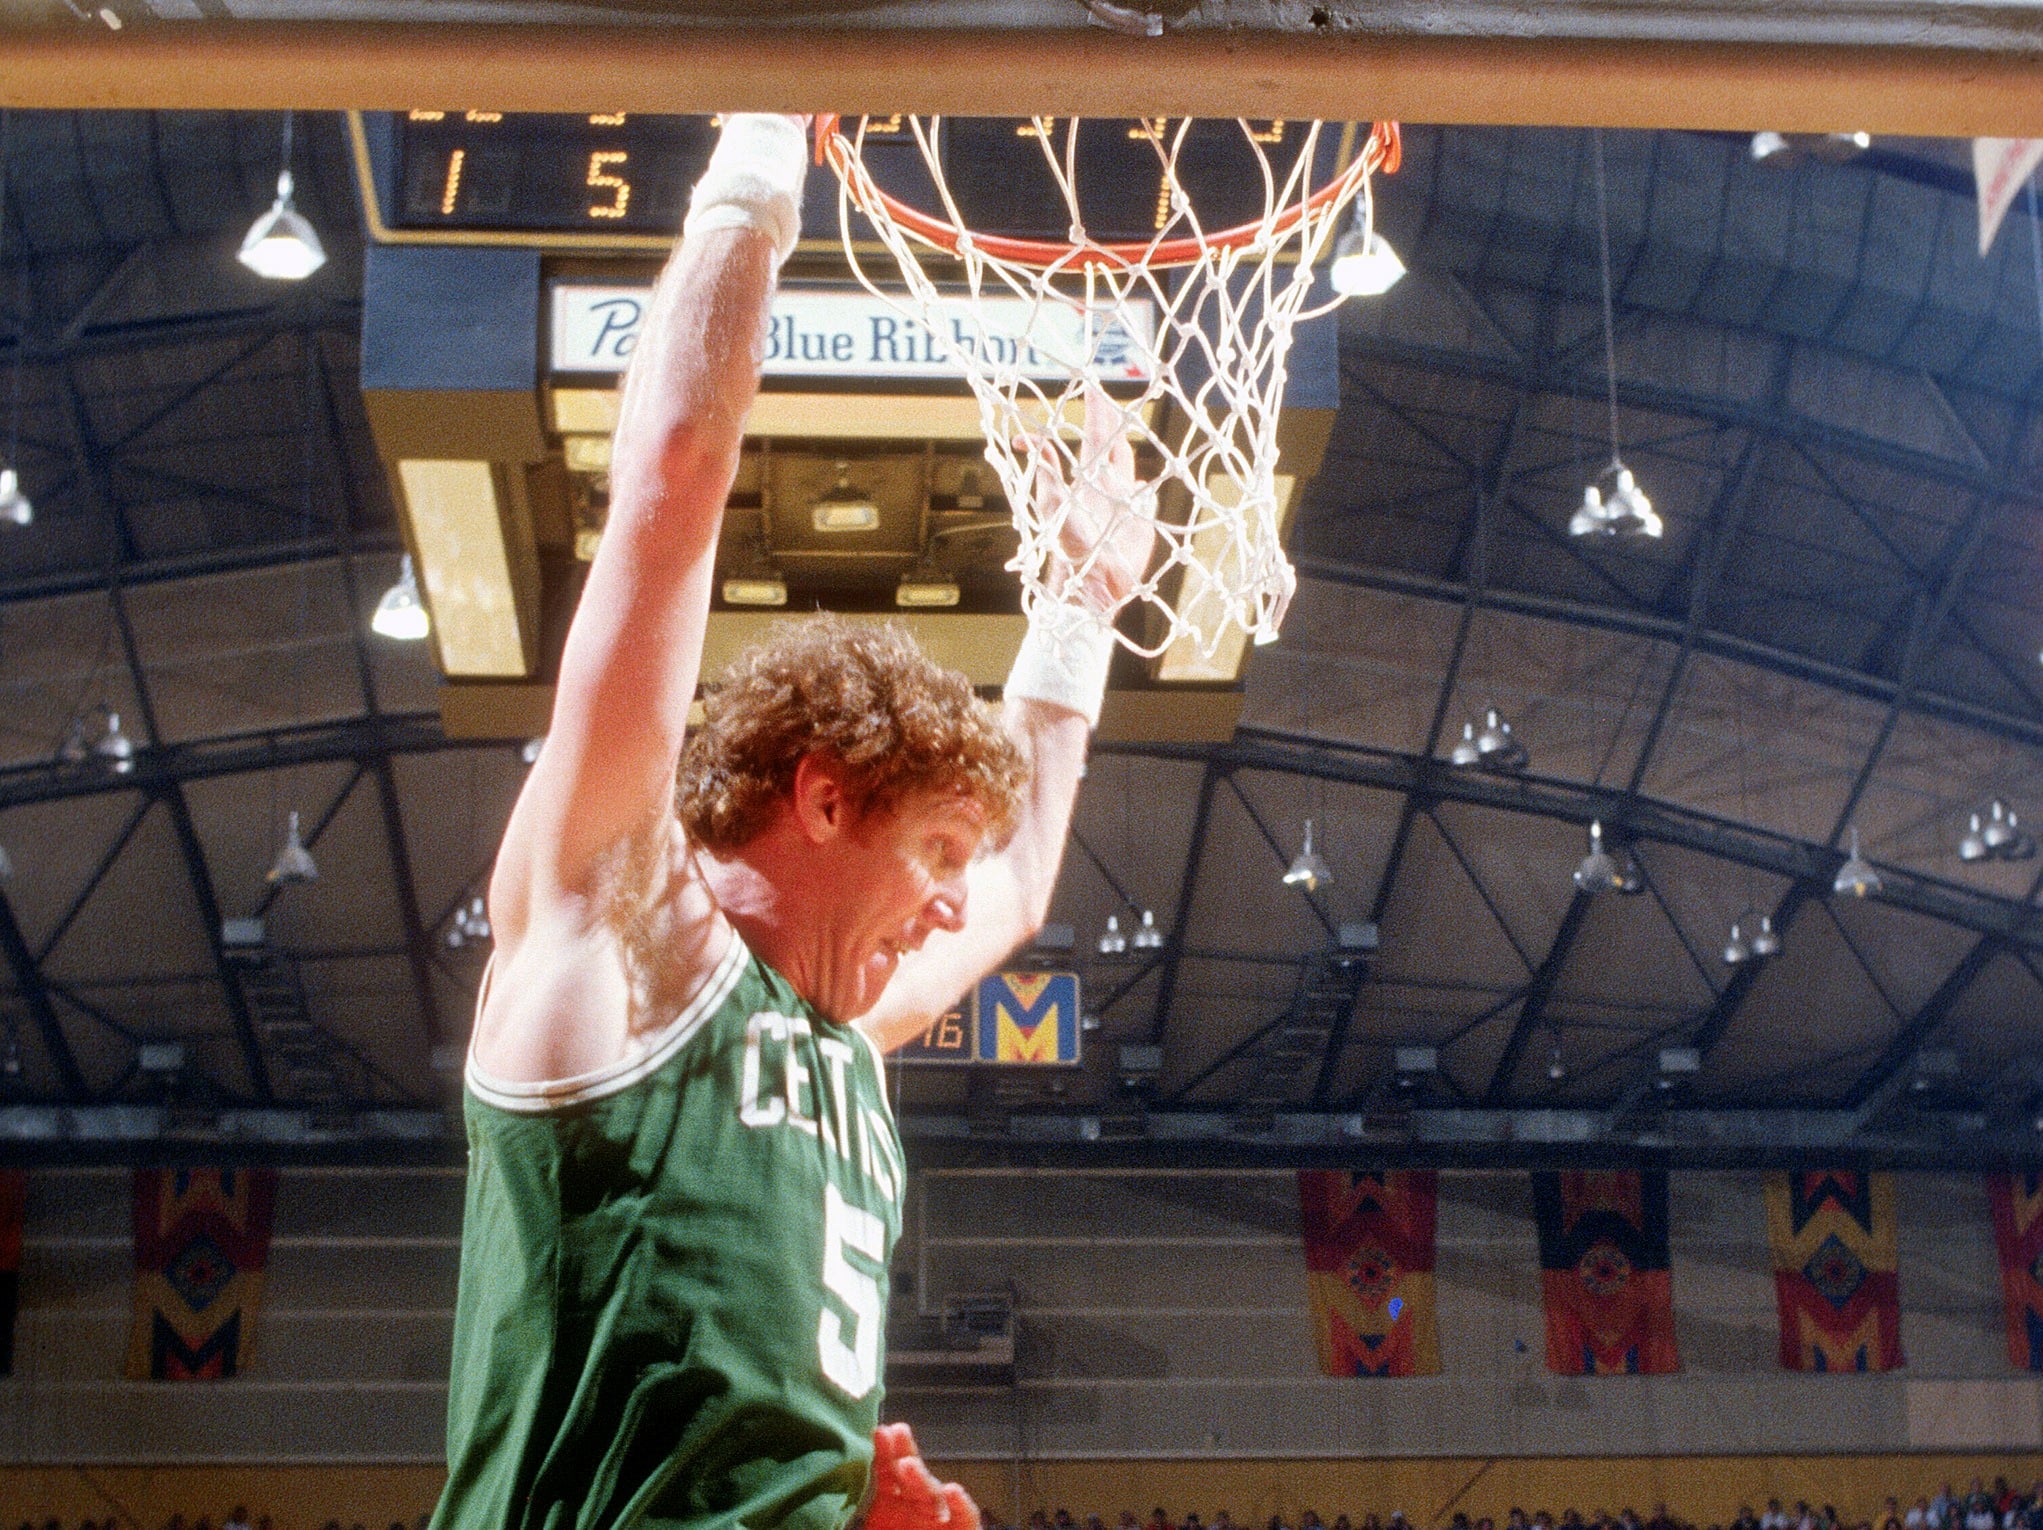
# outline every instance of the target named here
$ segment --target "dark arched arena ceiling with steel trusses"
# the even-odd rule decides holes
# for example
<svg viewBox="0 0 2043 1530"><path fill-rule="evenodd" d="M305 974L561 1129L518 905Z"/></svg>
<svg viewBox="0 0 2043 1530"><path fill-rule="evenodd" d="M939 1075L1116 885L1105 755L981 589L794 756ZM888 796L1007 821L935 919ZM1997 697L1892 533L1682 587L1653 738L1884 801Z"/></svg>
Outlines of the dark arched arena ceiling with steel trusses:
<svg viewBox="0 0 2043 1530"><path fill-rule="evenodd" d="M300 118L298 159L331 264L280 292L231 257L278 129L8 125L0 419L18 388L37 519L0 527L0 1142L25 1156L458 1152L484 946L447 931L525 764L441 737L423 646L368 633L398 535L337 121ZM2043 815L2033 214L1982 259L1953 143L1604 151L1618 429L1665 539L1565 529L1608 458L1589 137L1408 127L1379 225L1410 274L1340 315L1285 639L1230 744L1099 752L1052 909L1087 1062L903 1070L925 1160L2043 1156L2043 860L1957 858L1990 799ZM102 707L131 774L61 758ZM1522 774L1448 764L1487 707ZM272 893L290 811L321 876ZM1314 895L1281 882L1308 817ZM1573 887L1591 819L1634 897ZM1831 891L1853 827L1875 897ZM1158 950L1093 954L1144 909ZM243 915L259 952L223 942ZM1781 952L1724 966L1759 915ZM1375 950L1344 952L1361 923ZM1663 1048L1698 1062L1667 1089Z"/></svg>

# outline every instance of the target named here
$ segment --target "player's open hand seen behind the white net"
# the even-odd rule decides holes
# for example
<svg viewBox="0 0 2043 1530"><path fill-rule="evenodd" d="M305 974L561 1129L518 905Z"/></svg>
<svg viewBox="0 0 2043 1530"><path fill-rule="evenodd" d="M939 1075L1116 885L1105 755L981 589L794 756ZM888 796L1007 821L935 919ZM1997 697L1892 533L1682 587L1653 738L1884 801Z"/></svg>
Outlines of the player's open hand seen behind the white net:
<svg viewBox="0 0 2043 1530"><path fill-rule="evenodd" d="M1028 443L1036 460L1036 515L1056 527L1046 586L1073 605L1111 617L1142 584L1156 552L1156 494L1136 480L1126 417L1105 388L1085 388L1085 437L1075 482L1064 482L1050 441Z"/></svg>

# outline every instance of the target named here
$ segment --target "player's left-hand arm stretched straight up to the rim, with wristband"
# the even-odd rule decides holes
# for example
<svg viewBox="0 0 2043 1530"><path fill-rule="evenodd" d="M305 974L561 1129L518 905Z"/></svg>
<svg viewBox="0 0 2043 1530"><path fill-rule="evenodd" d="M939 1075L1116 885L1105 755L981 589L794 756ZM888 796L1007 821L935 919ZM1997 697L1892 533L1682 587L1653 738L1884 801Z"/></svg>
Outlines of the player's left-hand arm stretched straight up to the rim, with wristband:
<svg viewBox="0 0 2043 1530"><path fill-rule="evenodd" d="M654 288L623 386L603 545L490 882L501 964L535 923L611 917L623 884L664 864L654 852L672 821L717 531L805 168L801 118L731 116ZM629 889L635 901L656 893Z"/></svg>

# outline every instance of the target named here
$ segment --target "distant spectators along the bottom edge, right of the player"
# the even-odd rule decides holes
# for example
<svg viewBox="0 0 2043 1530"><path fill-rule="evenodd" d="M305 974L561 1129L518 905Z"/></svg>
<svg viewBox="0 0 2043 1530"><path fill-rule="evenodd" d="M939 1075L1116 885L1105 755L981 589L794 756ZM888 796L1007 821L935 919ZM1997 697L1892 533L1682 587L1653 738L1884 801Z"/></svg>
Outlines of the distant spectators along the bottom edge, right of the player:
<svg viewBox="0 0 2043 1530"><path fill-rule="evenodd" d="M1653 1514L1641 1516L1636 1510L1520 1510L1514 1508L1500 1522L1487 1514L1469 1516L1453 1510L1428 1520L1442 1530L1704 1530L1675 1514L1665 1503L1657 1503ZM987 1530L1013 1530L1001 1524L999 1516L987 1516ZM1269 1516L1267 1524L1244 1524L1228 1510L1220 1510L1211 1520L1199 1514L1171 1516L1162 1508L1138 1518L1134 1510L1120 1510L1109 1522L1101 1514L1075 1516L1071 1510L1036 1510L1022 1530L1414 1530L1414 1522L1404 1510L1336 1514L1332 1522L1318 1512L1305 1510L1297 1524L1283 1514ZM2027 1493L1996 1477L1988 1487L1974 1477L1971 1487L1959 1493L1945 1483L1935 1497L1916 1497L1904 1505L1898 1495L1890 1495L1871 1516L1839 1514L1835 1503L1810 1505L1796 1501L1786 1508L1781 1499L1769 1497L1763 1510L1751 1503L1741 1505L1728 1522L1712 1522L1708 1530L2043 1530L2043 1481Z"/></svg>

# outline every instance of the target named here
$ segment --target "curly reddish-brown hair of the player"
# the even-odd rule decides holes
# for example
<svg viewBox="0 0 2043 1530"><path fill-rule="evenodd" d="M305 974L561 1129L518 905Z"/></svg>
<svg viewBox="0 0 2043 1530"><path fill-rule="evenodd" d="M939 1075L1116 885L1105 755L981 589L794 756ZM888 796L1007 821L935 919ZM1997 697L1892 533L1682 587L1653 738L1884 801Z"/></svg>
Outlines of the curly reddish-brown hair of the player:
<svg viewBox="0 0 2043 1530"><path fill-rule="evenodd" d="M703 848L731 852L772 821L805 756L836 760L860 811L958 793L1007 844L1028 762L970 682L893 623L815 615L778 623L709 688L680 752L674 805Z"/></svg>

